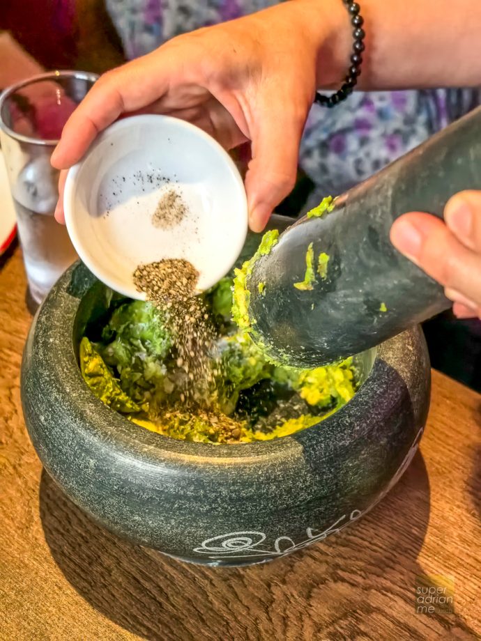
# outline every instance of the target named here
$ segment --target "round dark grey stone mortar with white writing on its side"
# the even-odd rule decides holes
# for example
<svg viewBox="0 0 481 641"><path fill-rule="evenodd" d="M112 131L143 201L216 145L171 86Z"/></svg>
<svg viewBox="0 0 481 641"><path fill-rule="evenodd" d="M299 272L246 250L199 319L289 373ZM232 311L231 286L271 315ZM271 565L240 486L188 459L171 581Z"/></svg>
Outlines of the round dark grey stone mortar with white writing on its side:
<svg viewBox="0 0 481 641"><path fill-rule="evenodd" d="M247 254L259 238L250 242ZM201 564L269 561L358 520L413 458L429 407L419 328L357 357L360 389L319 425L267 442L206 445L132 424L86 387L79 339L105 313L106 294L78 263L54 286L26 342L22 403L47 472L119 536Z"/></svg>

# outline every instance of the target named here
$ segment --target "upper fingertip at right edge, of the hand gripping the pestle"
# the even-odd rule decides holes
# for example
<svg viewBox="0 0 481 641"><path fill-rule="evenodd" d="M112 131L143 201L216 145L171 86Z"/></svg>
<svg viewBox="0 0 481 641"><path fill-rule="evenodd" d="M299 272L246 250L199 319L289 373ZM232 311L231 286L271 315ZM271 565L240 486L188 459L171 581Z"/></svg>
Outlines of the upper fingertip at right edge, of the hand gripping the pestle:
<svg viewBox="0 0 481 641"><path fill-rule="evenodd" d="M445 206L444 219L463 245L481 252L481 192L452 196Z"/></svg>

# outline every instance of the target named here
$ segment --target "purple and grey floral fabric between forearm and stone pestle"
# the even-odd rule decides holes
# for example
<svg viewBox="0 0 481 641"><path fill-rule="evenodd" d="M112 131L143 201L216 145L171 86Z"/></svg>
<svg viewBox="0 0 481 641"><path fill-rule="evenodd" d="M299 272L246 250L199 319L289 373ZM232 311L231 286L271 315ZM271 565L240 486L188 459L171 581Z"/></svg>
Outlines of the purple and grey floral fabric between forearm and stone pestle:
<svg viewBox="0 0 481 641"><path fill-rule="evenodd" d="M334 109L312 107L300 165L316 185L306 208L372 176L479 105L473 89L353 93Z"/></svg>

